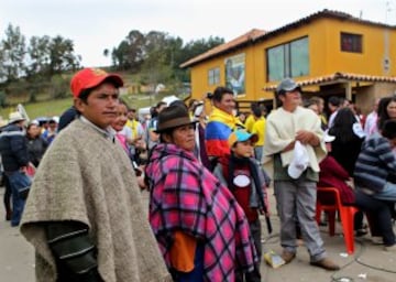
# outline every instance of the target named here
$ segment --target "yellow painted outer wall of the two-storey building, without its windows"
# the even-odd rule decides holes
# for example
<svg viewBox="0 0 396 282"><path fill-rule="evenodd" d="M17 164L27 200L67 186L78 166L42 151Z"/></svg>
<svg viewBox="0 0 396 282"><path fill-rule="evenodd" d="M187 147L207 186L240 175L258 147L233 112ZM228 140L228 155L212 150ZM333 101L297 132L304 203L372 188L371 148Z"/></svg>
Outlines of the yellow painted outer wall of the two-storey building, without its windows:
<svg viewBox="0 0 396 282"><path fill-rule="evenodd" d="M341 32L362 34L363 52L341 52ZM391 69L387 73L383 70L385 32L388 32L388 52L391 58ZM307 35L309 40L309 76L295 77L296 80L331 75L336 72L377 76L396 75L396 67L394 66L396 63L396 48L391 47L396 46L395 30L385 30L382 26L323 18L268 37L264 42L255 43L226 56L222 55L194 66L191 68L193 98L201 99L206 93L213 91L216 88L216 86L208 85L208 70L210 68L220 67L220 85L224 85L224 59L241 53L245 54L246 93L239 96L237 100L273 98L272 93L262 90L265 86L277 83L266 82L265 50Z"/></svg>

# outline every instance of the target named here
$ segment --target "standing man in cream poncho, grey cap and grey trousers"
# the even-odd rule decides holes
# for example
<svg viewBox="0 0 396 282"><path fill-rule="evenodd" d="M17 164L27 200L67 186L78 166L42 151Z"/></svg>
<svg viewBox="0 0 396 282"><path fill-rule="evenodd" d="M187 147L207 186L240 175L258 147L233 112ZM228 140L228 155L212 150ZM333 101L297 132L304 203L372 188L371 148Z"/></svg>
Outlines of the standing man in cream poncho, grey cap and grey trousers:
<svg viewBox="0 0 396 282"><path fill-rule="evenodd" d="M280 217L282 258L289 263L296 257L298 223L310 256L310 264L338 270L339 265L327 257L315 220L318 163L326 154L323 131L319 117L312 110L299 106L299 90L293 79L282 80L276 90L282 107L270 113L266 123L264 155L274 162L273 178ZM306 162L294 166L295 144L298 143L304 148Z"/></svg>

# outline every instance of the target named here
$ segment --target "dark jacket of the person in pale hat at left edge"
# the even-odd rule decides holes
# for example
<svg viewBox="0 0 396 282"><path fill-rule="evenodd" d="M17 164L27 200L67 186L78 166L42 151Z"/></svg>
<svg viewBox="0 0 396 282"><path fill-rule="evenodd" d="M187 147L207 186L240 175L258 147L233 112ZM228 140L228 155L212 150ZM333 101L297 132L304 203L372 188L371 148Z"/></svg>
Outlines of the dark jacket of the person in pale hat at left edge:
<svg viewBox="0 0 396 282"><path fill-rule="evenodd" d="M0 154L6 172L14 172L28 165L25 134L16 124L9 124L1 129Z"/></svg>

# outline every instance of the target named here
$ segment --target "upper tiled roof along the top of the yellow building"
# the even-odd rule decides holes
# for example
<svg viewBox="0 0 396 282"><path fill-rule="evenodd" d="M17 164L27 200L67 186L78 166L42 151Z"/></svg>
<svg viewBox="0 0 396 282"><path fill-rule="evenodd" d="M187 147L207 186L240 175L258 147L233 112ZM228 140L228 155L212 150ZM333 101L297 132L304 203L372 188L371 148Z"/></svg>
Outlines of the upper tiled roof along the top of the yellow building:
<svg viewBox="0 0 396 282"><path fill-rule="evenodd" d="M369 24L369 25L375 25L375 26L383 26L383 28L388 28L388 29L396 29L396 26L393 25L388 25L388 24L384 24L384 23L380 23L380 22L373 22L373 21L367 21L367 20L363 20L360 18L355 18L349 13L344 13L344 12L339 12L339 11L332 11L332 10L328 10L324 9L322 11L312 13L308 17L301 18L295 22L292 22L289 24L286 24L279 29L273 30L271 32L265 32L263 30L258 30L258 29L253 29L250 32L230 41L227 42L224 44L221 44L219 46L216 46L215 48L211 48L196 57L193 57L191 59L183 63L180 65L182 68L185 67L191 67L198 63L201 63L204 61L207 61L209 58L222 55L222 54L227 54L228 52L234 51L237 47L243 47L244 45L249 44L249 43L256 43L256 42L261 42L264 40L267 40L272 36L275 36L279 33L284 33L287 32L288 30L292 29L296 29L298 26L305 25L310 23L311 21L318 20L318 19L323 19L323 18L331 18L331 19L338 19L338 20L342 20L342 21L351 21L351 22L358 22L361 24Z"/></svg>

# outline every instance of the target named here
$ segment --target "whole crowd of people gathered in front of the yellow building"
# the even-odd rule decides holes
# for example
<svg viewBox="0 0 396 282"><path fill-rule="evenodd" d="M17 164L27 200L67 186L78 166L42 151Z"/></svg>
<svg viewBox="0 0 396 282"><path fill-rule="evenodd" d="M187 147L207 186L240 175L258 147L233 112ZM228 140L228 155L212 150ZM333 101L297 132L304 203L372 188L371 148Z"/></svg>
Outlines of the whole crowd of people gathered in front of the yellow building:
<svg viewBox="0 0 396 282"><path fill-rule="evenodd" d="M302 239L311 265L340 269L316 221L318 186L360 209L355 236L370 227L396 250L393 96L364 118L340 97L305 100L285 78L270 113L253 102L237 115L233 90L220 86L209 101L158 102L140 120L122 86L119 75L84 68L61 118L44 128L16 111L0 129L7 220L34 246L37 281L262 281L270 185L285 263Z"/></svg>

